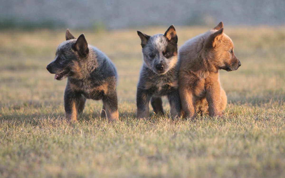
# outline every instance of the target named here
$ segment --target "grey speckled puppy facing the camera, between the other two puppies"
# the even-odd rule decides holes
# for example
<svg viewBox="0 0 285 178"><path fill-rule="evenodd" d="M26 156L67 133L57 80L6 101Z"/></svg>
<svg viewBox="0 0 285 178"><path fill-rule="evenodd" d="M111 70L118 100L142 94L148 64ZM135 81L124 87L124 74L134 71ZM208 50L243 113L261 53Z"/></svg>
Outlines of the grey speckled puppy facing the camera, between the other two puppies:
<svg viewBox="0 0 285 178"><path fill-rule="evenodd" d="M163 34L148 36L137 31L143 48L143 67L137 85L137 118L149 118L149 102L156 114L164 114L162 96L170 103L170 116L180 117L177 35L173 25Z"/></svg>

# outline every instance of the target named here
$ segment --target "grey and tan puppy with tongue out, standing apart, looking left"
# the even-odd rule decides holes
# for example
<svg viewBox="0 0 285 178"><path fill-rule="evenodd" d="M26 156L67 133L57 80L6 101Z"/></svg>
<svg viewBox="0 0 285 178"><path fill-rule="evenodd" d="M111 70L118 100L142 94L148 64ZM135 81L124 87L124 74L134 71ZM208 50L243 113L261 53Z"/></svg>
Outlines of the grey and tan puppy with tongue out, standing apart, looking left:
<svg viewBox="0 0 285 178"><path fill-rule="evenodd" d="M111 60L95 47L88 45L84 34L77 39L67 29L54 60L46 69L54 79L67 78L64 92L66 120L77 120L86 99L102 100L101 116L118 120L117 71Z"/></svg>

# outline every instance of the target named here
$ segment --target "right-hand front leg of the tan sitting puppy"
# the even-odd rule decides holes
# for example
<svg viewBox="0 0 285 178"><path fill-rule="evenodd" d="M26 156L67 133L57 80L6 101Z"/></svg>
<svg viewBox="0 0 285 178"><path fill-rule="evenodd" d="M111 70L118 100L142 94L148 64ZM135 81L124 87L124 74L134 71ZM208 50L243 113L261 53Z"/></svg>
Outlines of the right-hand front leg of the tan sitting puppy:
<svg viewBox="0 0 285 178"><path fill-rule="evenodd" d="M206 84L206 99L209 106L209 116L223 116L221 112L221 85L219 82L219 74L214 73L209 75L205 80Z"/></svg>

